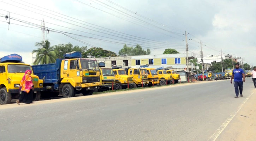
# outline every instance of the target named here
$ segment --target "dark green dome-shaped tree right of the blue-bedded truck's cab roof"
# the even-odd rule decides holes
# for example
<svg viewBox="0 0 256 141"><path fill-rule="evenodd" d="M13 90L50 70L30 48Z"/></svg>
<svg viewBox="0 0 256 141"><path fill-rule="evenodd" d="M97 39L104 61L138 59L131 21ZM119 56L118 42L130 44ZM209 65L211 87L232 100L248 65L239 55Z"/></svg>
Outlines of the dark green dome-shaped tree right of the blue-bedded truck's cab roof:
<svg viewBox="0 0 256 141"><path fill-rule="evenodd" d="M117 54L112 51L96 47L88 49L85 55L88 57L117 57Z"/></svg>

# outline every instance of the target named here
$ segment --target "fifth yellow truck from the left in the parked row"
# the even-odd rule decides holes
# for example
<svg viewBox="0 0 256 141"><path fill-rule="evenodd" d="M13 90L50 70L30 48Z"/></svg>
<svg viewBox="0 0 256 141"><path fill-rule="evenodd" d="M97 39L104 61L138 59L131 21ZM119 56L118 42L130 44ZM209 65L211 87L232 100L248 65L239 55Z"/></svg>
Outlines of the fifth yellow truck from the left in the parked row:
<svg viewBox="0 0 256 141"><path fill-rule="evenodd" d="M146 86L148 87L148 72L144 68L126 68L126 74L132 77L132 81L136 84L136 87Z"/></svg>

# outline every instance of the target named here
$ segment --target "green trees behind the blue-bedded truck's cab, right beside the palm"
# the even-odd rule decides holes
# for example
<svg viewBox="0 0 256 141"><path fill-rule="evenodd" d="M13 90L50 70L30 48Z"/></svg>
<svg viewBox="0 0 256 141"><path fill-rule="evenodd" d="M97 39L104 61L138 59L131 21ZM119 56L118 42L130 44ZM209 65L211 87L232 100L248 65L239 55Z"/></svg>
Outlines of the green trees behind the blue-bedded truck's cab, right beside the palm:
<svg viewBox="0 0 256 141"><path fill-rule="evenodd" d="M86 49L87 46L83 46L83 47L79 47L78 45L76 45L75 47L73 47L73 45L71 43L68 44L58 44L53 46L54 49L56 50L56 55L58 58L64 58L63 55L66 53L70 53L72 51L78 51L82 53L82 57L83 58L87 58L86 56Z"/></svg>

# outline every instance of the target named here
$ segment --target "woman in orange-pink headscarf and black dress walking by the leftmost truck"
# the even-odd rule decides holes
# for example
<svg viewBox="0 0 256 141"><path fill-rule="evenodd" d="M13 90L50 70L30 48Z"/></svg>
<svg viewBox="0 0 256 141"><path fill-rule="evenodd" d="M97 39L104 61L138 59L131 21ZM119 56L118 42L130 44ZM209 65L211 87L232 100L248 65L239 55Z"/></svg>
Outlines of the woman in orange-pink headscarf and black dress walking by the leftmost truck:
<svg viewBox="0 0 256 141"><path fill-rule="evenodd" d="M32 77L30 74L32 73L31 70L26 70L25 75L23 76L20 85L20 97L18 100L16 100L16 103L19 104L20 102L30 104L33 103L33 90L34 85L32 82Z"/></svg>

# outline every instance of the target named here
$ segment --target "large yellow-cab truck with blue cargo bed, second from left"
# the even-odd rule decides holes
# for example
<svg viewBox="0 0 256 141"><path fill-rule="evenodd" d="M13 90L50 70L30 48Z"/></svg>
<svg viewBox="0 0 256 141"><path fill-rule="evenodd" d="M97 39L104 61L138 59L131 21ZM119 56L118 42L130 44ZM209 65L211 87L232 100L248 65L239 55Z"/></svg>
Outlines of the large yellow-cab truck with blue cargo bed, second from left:
<svg viewBox="0 0 256 141"><path fill-rule="evenodd" d="M32 66L34 73L44 79L43 94L73 97L76 93L93 94L100 82L100 69L95 59L82 59L82 54L72 52L64 54L64 59L55 63Z"/></svg>

